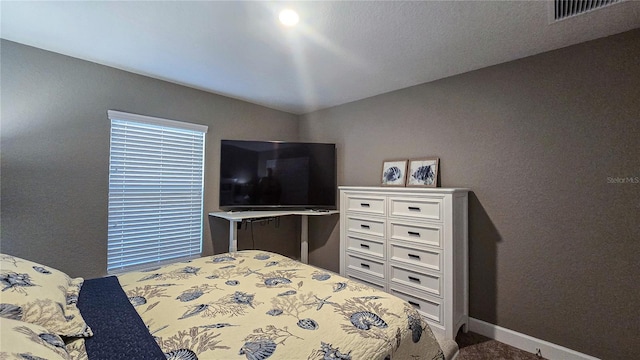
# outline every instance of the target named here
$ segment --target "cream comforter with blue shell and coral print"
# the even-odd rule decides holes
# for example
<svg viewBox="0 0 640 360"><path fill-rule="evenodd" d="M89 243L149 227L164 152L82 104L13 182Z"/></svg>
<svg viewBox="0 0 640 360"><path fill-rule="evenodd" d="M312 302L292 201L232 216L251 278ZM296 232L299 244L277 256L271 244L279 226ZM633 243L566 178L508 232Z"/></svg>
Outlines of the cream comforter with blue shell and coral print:
<svg viewBox="0 0 640 360"><path fill-rule="evenodd" d="M169 359L444 359L408 303L265 251L118 279Z"/></svg>

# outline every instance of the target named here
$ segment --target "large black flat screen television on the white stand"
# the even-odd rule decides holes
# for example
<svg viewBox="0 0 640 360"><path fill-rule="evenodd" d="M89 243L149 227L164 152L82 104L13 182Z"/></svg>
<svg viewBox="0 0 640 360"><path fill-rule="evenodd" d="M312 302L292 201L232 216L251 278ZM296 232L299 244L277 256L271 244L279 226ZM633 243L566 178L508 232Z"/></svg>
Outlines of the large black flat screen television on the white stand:
<svg viewBox="0 0 640 360"><path fill-rule="evenodd" d="M222 140L224 211L336 209L336 145Z"/></svg>

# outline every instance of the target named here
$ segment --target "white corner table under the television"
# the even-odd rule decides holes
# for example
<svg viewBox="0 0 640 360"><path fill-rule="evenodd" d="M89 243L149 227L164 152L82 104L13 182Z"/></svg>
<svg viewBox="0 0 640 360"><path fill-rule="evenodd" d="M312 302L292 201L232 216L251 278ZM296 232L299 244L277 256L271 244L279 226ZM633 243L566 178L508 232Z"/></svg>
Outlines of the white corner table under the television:
<svg viewBox="0 0 640 360"><path fill-rule="evenodd" d="M238 251L237 224L248 219L261 219L279 216L301 216L300 226L300 261L309 263L309 216L322 216L340 213L338 210L273 210L273 211L216 211L209 216L229 221L229 252Z"/></svg>

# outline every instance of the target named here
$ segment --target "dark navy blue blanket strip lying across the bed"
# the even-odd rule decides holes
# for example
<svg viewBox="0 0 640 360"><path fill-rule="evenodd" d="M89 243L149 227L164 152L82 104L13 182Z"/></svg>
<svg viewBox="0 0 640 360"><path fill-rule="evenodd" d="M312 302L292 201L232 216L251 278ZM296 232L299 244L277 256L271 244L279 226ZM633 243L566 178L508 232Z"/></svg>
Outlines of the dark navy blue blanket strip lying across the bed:
<svg viewBox="0 0 640 360"><path fill-rule="evenodd" d="M166 360L115 276L85 280L78 308L94 333L85 340L89 359Z"/></svg>

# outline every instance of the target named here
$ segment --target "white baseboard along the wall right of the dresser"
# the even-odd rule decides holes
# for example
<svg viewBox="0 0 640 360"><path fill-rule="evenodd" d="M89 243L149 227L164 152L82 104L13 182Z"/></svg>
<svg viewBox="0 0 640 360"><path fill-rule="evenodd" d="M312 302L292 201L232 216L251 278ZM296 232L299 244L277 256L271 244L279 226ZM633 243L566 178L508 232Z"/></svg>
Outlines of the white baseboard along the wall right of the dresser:
<svg viewBox="0 0 640 360"><path fill-rule="evenodd" d="M596 357L471 317L469 318L469 331L533 354L538 353L538 350L540 350L540 355L549 360L600 360Z"/></svg>

